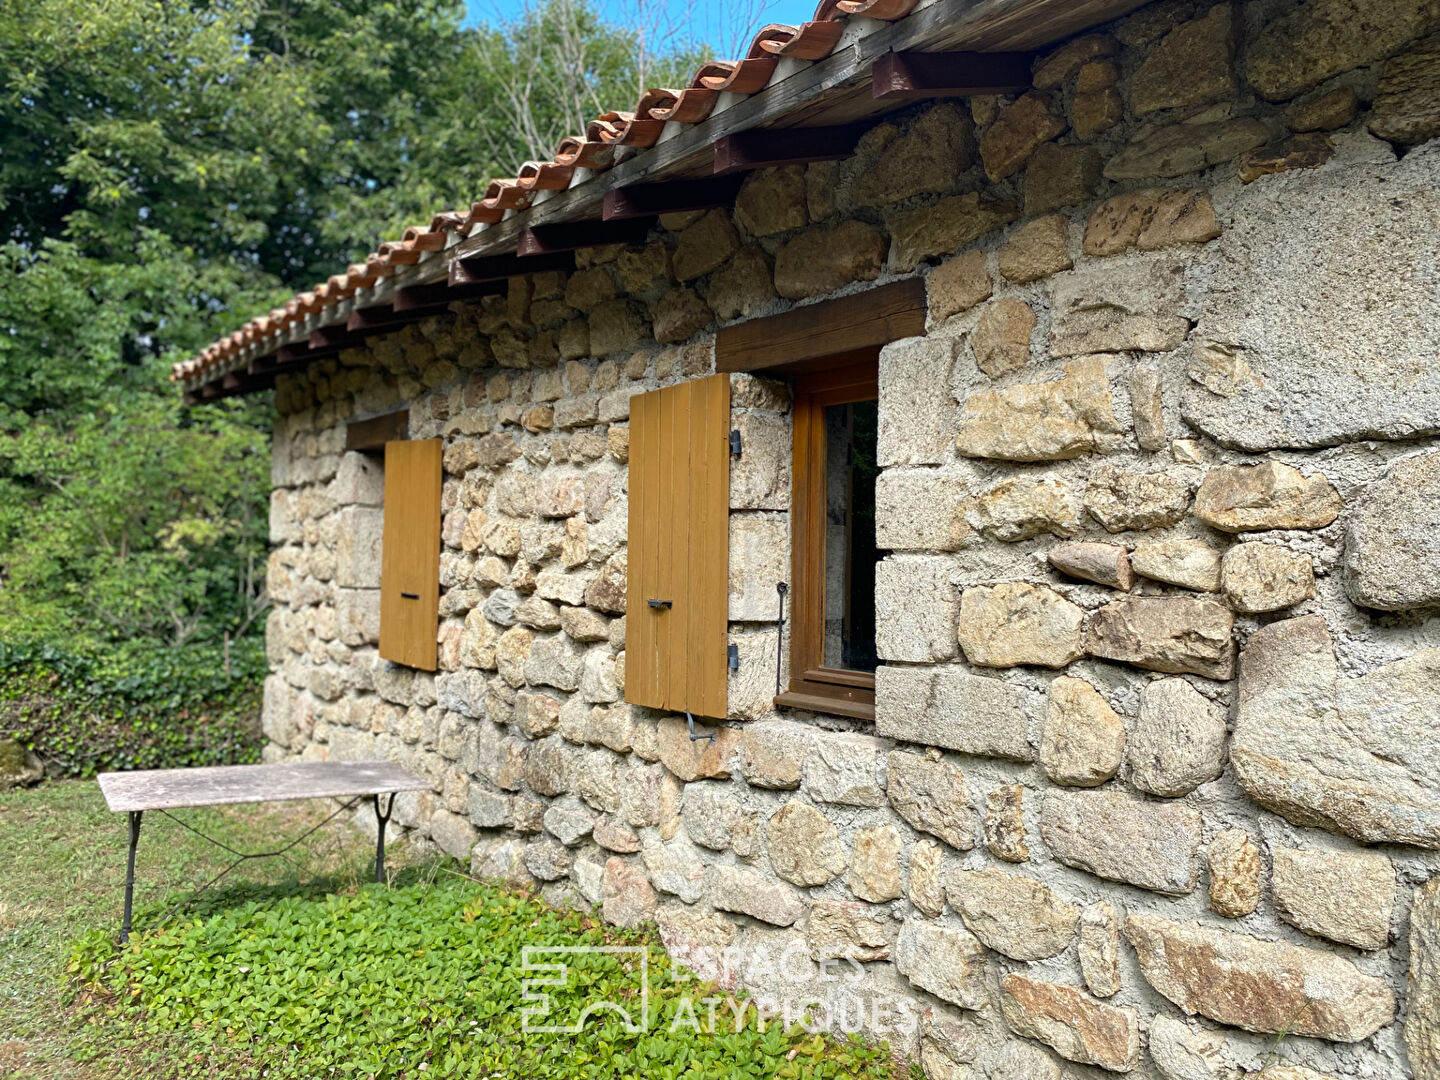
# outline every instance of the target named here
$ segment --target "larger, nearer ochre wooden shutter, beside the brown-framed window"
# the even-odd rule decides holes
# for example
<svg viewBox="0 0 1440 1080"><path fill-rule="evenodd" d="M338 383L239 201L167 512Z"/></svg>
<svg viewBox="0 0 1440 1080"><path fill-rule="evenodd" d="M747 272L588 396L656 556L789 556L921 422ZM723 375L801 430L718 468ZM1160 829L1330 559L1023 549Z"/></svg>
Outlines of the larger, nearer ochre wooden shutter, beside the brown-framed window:
<svg viewBox="0 0 1440 1080"><path fill-rule="evenodd" d="M729 439L729 376L631 397L631 704L708 717L727 711Z"/></svg>

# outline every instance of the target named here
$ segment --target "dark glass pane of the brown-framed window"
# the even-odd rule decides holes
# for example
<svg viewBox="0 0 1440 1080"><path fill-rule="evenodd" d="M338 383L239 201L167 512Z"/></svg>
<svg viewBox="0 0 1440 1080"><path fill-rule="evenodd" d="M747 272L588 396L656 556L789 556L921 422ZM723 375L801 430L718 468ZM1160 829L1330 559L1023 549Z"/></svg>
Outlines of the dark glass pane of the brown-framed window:
<svg viewBox="0 0 1440 1080"><path fill-rule="evenodd" d="M825 667L874 671L878 402L825 408Z"/></svg>

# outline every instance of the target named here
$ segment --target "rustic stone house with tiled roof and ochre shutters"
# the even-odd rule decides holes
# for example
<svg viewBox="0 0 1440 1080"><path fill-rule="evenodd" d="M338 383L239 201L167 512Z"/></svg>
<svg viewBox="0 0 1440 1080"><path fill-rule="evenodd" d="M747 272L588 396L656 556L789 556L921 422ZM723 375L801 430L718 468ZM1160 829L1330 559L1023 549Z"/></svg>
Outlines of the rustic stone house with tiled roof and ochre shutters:
<svg viewBox="0 0 1440 1080"><path fill-rule="evenodd" d="M1433 0L766 27L177 367L266 759L932 1080L1440 1080L1437 134Z"/></svg>

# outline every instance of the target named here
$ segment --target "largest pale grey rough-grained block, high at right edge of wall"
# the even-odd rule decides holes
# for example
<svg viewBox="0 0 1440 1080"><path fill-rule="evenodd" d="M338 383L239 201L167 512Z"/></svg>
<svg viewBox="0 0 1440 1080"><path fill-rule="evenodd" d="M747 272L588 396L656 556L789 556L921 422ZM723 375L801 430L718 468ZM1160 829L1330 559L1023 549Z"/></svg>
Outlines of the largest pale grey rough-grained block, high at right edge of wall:
<svg viewBox="0 0 1440 1080"><path fill-rule="evenodd" d="M1440 153L1296 174L1282 202L1263 187L1215 245L1195 340L1223 350L1217 374L1191 376L1187 422L1256 452L1440 432L1440 300L1424 282L1440 262Z"/></svg>

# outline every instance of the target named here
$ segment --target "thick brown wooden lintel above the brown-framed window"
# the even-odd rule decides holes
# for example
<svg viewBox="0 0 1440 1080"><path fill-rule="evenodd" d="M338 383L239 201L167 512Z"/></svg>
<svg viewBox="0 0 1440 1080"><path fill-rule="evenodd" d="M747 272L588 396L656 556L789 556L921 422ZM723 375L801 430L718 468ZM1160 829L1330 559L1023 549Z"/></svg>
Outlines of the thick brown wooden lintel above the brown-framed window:
<svg viewBox="0 0 1440 1080"><path fill-rule="evenodd" d="M924 282L910 278L783 315L736 323L716 334L716 370L798 369L819 357L919 337L924 333Z"/></svg>

